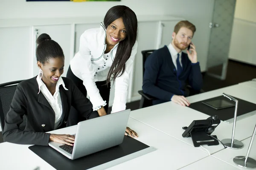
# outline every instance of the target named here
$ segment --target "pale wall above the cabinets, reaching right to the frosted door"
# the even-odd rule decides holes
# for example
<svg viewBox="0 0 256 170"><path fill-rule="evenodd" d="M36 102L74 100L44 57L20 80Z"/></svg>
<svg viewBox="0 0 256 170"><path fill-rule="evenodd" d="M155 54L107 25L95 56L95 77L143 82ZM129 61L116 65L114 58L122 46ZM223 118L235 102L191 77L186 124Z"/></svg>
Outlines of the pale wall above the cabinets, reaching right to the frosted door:
<svg viewBox="0 0 256 170"><path fill-rule="evenodd" d="M198 47L201 70L205 71L210 33L208 25L212 18L213 4L214 0L121 0L84 3L0 0L0 19L87 16L102 16L103 19L107 10L115 5L129 6L137 15L165 14L183 17L197 27L193 42Z"/></svg>

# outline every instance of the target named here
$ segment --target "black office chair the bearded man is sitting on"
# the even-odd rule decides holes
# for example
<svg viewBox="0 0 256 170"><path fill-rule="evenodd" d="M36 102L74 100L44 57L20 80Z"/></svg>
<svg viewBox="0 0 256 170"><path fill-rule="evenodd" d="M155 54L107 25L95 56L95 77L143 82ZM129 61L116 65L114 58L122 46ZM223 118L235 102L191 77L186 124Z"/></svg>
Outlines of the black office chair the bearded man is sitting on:
<svg viewBox="0 0 256 170"><path fill-rule="evenodd" d="M145 61L147 59L147 57L152 54L155 50L144 50L141 51L142 56L143 56L143 77L144 77L144 72L145 72ZM203 93L204 90L201 89L200 91L195 91L190 85L186 85L185 91L187 91L187 93L189 94L189 96L195 95L195 94L199 94L199 93ZM138 93L141 95L141 99L140 99L140 107L139 108L145 108L148 106L152 105L152 100L157 99L153 96L150 96L149 94L145 94L142 90L138 91Z"/></svg>

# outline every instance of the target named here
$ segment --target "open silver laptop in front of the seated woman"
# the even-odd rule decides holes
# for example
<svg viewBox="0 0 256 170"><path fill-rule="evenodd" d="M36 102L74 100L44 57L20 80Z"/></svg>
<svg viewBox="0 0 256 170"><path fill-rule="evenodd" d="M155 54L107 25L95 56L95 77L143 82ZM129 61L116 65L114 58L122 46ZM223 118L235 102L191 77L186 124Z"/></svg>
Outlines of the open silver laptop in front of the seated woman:
<svg viewBox="0 0 256 170"><path fill-rule="evenodd" d="M74 146L49 142L49 146L67 156L78 159L123 142L131 110L120 111L77 124Z"/></svg>

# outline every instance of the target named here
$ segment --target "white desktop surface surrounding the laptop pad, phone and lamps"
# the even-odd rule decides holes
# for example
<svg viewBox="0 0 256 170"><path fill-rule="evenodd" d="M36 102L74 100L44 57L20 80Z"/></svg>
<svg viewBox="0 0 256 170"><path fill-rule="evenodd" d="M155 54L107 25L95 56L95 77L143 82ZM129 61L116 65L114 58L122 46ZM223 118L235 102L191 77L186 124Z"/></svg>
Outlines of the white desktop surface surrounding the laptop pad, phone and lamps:
<svg viewBox="0 0 256 170"><path fill-rule="evenodd" d="M256 103L256 90L243 84L221 88L215 91L188 97L190 102L198 102L215 96L220 96L223 92L238 98ZM183 126L189 126L193 120L206 119L208 115L193 109L177 105L173 102L163 103L148 108L143 108L131 112L128 126L136 130L140 135L137 140L149 146L157 148L156 151L137 157L122 164L118 164L109 170L125 169L237 169L233 166L233 157L245 156L249 138L253 133L256 123L256 115L241 119L237 122L235 139L244 143L244 148L240 150L223 149L218 146L204 146L212 156L201 147L195 148L191 138L183 138ZM221 122L213 135L219 139L231 138L233 124ZM76 126L67 127L52 131L59 134L74 134ZM256 143L256 142L254 142ZM38 157L28 149L29 145L18 145L11 143L0 144L0 164L3 170L19 169L33 170L40 167L40 170L52 170L47 162ZM256 146L254 144L251 156L256 159ZM204 152L202 152L203 150ZM1 168L2 170L2 168Z"/></svg>

